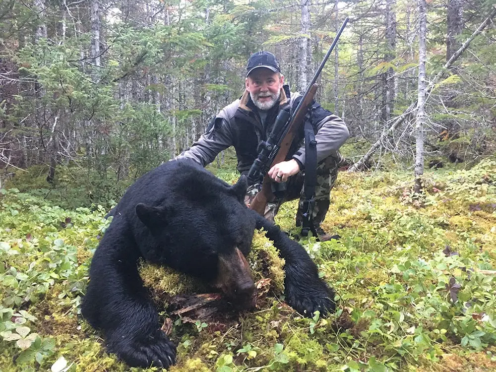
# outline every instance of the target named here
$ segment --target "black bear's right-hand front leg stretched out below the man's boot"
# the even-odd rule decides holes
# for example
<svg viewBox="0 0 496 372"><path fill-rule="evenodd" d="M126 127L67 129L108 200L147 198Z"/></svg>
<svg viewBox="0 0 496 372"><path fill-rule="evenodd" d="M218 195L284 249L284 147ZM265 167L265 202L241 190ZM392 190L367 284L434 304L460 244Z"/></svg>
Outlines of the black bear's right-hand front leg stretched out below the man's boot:
<svg viewBox="0 0 496 372"><path fill-rule="evenodd" d="M256 228L263 228L266 236L274 242L284 258L286 277L284 280L286 301L305 316L312 316L318 310L320 314L333 312L334 290L318 277L317 266L311 260L305 248L290 239L278 226L254 213Z"/></svg>

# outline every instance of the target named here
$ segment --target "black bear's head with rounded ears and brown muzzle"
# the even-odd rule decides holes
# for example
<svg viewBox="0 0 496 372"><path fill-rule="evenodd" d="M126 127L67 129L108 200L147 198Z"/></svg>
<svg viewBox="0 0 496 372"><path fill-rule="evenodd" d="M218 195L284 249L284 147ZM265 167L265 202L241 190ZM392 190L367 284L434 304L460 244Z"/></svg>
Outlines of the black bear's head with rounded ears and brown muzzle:
<svg viewBox="0 0 496 372"><path fill-rule="evenodd" d="M159 205L135 206L150 235L142 254L210 283L240 308L252 307L254 282L245 256L255 221L243 201L246 177L229 186L204 170L190 176L170 182Z"/></svg>

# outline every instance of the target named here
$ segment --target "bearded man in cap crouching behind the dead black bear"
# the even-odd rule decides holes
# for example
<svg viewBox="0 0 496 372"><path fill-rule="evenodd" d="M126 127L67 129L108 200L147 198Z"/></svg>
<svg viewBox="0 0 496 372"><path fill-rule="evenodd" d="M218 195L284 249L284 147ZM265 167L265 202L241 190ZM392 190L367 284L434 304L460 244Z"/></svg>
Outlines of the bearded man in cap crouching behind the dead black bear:
<svg viewBox="0 0 496 372"><path fill-rule="evenodd" d="M179 157L195 160L202 166L211 163L217 154L234 146L238 158L238 171L248 174L257 157L260 141L267 139L275 118L281 109L296 109L302 96L291 93L284 84L279 62L273 54L265 51L254 53L248 59L247 77L243 96L224 107L212 120L207 131ZM317 186L312 223L320 241L332 239L320 224L329 209L330 190L337 177L338 165L344 158L338 149L348 139L349 132L344 122L314 102L308 119L315 133L317 152ZM267 203L264 217L274 221L280 205L300 197L296 215L297 226L302 225L304 214L304 178L306 151L303 129L293 142L286 161L274 165L268 176L276 183L287 182L287 191L273 202ZM253 199L257 188L248 187L247 204Z"/></svg>

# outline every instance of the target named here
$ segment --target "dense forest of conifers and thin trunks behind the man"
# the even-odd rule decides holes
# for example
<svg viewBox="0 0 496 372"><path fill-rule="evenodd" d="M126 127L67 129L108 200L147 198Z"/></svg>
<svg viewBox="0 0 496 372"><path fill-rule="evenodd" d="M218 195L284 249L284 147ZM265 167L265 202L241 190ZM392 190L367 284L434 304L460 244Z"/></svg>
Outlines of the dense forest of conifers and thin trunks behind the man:
<svg viewBox="0 0 496 372"><path fill-rule="evenodd" d="M77 180L92 198L67 190L69 203L115 200L242 94L250 53L272 51L303 91L346 16L317 100L348 124L354 162L375 143L355 168L411 167L417 156L421 175L424 152L430 166L473 164L496 141L493 3L1 1L0 185L44 173L38 187Z"/></svg>

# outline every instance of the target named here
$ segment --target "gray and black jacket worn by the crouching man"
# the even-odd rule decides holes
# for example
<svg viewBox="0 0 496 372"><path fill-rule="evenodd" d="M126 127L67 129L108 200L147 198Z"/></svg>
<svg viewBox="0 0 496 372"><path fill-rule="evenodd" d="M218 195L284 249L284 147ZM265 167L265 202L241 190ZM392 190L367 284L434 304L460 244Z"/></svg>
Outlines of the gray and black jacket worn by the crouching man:
<svg viewBox="0 0 496 372"><path fill-rule="evenodd" d="M245 91L240 99L224 107L198 141L194 142L178 158L190 158L206 166L215 159L219 152L229 146L234 146L238 157L238 171L242 174L246 173L257 157L258 143L267 139L279 110L288 106L294 110L301 99L302 96L299 93L290 93L288 85L283 86L279 105L269 110L265 124L263 124L258 115L258 109L251 101L249 93ZM339 159L338 149L350 135L346 124L341 118L324 110L316 102L313 103L311 110L311 124L317 141L317 162L329 156ZM302 130L295 138L294 148L290 150L288 157L295 159L301 169L305 166L303 138L302 125Z"/></svg>

